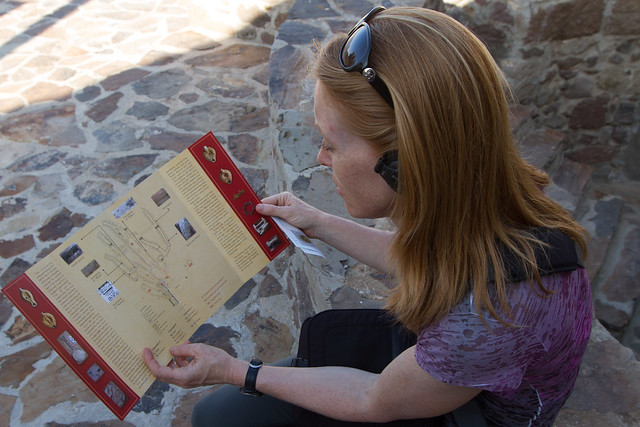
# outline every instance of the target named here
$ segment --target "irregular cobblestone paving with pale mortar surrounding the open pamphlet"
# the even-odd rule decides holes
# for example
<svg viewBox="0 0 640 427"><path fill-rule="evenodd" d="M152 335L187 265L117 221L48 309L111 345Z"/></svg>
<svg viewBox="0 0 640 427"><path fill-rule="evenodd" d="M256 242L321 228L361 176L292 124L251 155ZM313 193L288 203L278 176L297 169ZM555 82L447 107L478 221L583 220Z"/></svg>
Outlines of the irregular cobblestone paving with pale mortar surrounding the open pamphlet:
<svg viewBox="0 0 640 427"><path fill-rule="evenodd" d="M288 189L346 214L315 160L306 71L312 40L347 30L372 3L0 2L1 285L210 130L259 195ZM529 129L530 110L514 111L514 128ZM527 147L558 155L549 138ZM275 361L295 351L307 316L381 304L385 277L322 249L326 260L281 255L193 340ZM183 426L207 392L156 383L119 422L1 296L0 332L0 425ZM640 422L639 380L631 351L596 325L558 425Z"/></svg>

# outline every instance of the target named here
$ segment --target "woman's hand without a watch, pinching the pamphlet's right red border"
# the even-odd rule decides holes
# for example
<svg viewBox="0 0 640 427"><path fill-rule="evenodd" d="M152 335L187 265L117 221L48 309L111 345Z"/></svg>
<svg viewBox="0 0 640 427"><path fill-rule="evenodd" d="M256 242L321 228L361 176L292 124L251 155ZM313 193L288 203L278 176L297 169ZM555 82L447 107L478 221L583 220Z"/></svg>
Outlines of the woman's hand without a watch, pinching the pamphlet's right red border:
<svg viewBox="0 0 640 427"><path fill-rule="evenodd" d="M256 211L261 215L282 218L312 239L320 238L320 223L324 216L328 216L326 212L314 208L286 191L265 197L262 203L256 206Z"/></svg>

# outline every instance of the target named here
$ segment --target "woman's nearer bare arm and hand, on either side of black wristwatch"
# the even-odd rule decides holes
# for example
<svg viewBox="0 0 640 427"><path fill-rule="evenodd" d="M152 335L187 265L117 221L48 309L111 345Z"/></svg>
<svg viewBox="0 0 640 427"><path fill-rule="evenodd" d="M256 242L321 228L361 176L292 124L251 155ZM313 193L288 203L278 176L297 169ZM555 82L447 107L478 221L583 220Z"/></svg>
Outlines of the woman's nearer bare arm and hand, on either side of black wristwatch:
<svg viewBox="0 0 640 427"><path fill-rule="evenodd" d="M462 406L480 389L444 384L427 374L407 349L385 368L372 374L352 368L260 368L256 387L263 393L331 418L345 421L386 422L426 418ZM182 367L161 367L151 352L145 361L156 377L182 387L228 383L244 384L247 362L202 344L185 344L172 352ZM183 356L194 356L187 363Z"/></svg>

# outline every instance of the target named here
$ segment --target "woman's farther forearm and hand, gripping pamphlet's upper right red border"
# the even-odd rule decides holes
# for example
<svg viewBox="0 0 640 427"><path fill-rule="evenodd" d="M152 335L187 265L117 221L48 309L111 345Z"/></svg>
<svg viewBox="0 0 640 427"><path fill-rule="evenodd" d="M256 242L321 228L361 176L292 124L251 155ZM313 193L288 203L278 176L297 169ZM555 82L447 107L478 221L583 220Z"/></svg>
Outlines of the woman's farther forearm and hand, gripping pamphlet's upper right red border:
<svg viewBox="0 0 640 427"><path fill-rule="evenodd" d="M277 216L337 250L384 272L390 272L387 254L394 233L366 227L330 215L304 203L291 193L280 193L256 206L261 215Z"/></svg>

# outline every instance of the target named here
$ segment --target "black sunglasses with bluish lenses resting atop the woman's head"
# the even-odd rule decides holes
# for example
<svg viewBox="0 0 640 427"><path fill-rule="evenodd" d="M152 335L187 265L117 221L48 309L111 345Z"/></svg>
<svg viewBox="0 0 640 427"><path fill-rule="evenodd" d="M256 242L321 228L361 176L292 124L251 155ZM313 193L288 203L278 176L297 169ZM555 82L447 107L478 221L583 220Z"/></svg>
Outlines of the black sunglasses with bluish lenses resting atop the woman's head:
<svg viewBox="0 0 640 427"><path fill-rule="evenodd" d="M378 77L375 70L368 66L369 55L371 54L371 28L367 22L385 9L384 6L376 6L358 21L349 31L347 40L345 40L340 49L339 59L343 70L362 73L362 76L367 79L382 99L393 108L393 100L391 99L389 88Z"/></svg>

